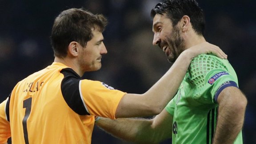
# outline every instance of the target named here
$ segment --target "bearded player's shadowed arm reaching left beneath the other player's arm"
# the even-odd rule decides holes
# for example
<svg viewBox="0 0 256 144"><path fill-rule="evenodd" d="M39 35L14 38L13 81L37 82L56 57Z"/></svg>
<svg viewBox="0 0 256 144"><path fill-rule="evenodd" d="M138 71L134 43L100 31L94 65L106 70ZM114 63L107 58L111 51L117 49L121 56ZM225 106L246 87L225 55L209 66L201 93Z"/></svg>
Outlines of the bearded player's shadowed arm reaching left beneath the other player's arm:
<svg viewBox="0 0 256 144"><path fill-rule="evenodd" d="M172 137L172 116L165 110L151 120L100 117L96 124L112 136L140 144L156 144Z"/></svg>

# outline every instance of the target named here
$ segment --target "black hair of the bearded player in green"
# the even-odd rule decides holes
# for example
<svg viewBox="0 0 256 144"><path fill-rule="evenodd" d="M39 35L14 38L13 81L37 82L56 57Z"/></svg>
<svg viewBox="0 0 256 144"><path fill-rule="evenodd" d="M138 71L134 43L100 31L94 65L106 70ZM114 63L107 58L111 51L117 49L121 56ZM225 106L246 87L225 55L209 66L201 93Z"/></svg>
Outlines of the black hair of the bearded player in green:
<svg viewBox="0 0 256 144"><path fill-rule="evenodd" d="M204 13L196 0L164 0L162 3L156 4L155 8L151 10L152 17L156 14L166 14L172 20L173 26L176 26L180 19L187 15L190 17L195 32L199 35L204 34Z"/></svg>

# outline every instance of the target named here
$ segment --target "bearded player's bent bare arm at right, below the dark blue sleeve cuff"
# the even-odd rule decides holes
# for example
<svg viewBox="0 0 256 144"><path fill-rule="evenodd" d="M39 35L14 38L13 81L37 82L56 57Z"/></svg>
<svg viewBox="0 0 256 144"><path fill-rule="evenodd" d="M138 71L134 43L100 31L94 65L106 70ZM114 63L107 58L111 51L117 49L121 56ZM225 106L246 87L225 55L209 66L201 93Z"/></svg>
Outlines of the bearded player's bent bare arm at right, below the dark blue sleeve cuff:
<svg viewBox="0 0 256 144"><path fill-rule="evenodd" d="M219 112L213 144L233 144L244 124L247 99L236 87L225 88L218 97Z"/></svg>

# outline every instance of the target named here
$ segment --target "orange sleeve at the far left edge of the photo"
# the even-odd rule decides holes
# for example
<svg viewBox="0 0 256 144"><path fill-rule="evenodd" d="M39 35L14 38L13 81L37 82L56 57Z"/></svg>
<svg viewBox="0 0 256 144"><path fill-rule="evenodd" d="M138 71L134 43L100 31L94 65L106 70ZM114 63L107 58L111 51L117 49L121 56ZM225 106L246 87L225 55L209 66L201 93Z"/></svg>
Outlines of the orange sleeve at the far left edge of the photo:
<svg viewBox="0 0 256 144"><path fill-rule="evenodd" d="M0 104L0 144L7 142L8 138L11 137L11 128L8 121L7 110L8 110L8 98Z"/></svg>

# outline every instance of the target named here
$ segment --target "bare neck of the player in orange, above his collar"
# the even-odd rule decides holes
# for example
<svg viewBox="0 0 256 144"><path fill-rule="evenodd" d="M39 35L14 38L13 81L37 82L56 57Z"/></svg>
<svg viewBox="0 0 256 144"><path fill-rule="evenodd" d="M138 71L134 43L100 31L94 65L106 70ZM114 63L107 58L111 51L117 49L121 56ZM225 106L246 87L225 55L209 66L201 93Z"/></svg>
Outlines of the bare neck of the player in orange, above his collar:
<svg viewBox="0 0 256 144"><path fill-rule="evenodd" d="M66 66L72 68L79 76L84 75L84 72L80 69L79 65L77 65L75 59L68 58L68 56L66 56L65 58L55 56L54 62L65 64Z"/></svg>

